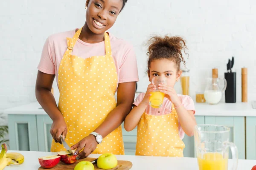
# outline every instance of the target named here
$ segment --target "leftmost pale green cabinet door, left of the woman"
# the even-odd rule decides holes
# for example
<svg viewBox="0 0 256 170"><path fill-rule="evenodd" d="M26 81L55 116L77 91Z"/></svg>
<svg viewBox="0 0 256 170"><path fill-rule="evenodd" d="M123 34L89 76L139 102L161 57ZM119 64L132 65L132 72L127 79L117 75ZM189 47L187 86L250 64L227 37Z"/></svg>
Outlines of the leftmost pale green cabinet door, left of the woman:
<svg viewBox="0 0 256 170"><path fill-rule="evenodd" d="M9 150L38 151L36 115L8 115Z"/></svg>

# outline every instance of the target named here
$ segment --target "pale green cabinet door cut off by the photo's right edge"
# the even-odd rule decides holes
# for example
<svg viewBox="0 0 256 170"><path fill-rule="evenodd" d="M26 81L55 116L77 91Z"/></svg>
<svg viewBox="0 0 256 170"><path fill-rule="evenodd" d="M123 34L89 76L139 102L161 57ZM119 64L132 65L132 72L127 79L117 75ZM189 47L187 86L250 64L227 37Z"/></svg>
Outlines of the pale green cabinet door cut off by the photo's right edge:
<svg viewBox="0 0 256 170"><path fill-rule="evenodd" d="M256 117L246 117L246 159L256 159Z"/></svg>

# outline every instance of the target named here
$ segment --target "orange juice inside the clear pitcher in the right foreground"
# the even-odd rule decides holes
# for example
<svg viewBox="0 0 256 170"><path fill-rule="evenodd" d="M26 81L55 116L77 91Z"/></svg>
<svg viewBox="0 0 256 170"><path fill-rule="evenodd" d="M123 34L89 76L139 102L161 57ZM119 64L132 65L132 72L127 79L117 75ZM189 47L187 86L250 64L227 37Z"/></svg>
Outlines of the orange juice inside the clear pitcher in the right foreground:
<svg viewBox="0 0 256 170"><path fill-rule="evenodd" d="M203 158L198 157L199 170L227 170L228 158L221 153L205 153Z"/></svg>

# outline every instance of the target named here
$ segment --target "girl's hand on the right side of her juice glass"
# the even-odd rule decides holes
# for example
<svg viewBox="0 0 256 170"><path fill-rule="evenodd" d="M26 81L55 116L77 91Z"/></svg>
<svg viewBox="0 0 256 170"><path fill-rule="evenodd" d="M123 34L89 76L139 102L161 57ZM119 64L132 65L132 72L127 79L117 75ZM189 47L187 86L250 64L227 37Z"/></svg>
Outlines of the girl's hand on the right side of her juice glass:
<svg viewBox="0 0 256 170"><path fill-rule="evenodd" d="M160 92L163 92L165 94L165 97L169 99L175 106L181 105L180 98L177 96L176 91L174 88L169 87L166 84L161 83L159 85Z"/></svg>

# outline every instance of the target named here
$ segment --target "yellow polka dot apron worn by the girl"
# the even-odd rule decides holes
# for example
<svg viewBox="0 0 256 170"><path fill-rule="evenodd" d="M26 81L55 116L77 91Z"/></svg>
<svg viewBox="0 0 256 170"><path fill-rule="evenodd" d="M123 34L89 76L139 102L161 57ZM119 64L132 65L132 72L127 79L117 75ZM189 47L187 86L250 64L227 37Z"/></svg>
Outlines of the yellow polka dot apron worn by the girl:
<svg viewBox="0 0 256 170"><path fill-rule="evenodd" d="M162 116L144 112L137 127L136 155L183 157L185 144L178 126L174 105L169 114Z"/></svg>

